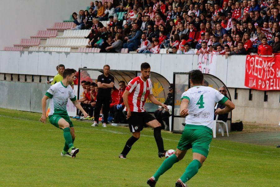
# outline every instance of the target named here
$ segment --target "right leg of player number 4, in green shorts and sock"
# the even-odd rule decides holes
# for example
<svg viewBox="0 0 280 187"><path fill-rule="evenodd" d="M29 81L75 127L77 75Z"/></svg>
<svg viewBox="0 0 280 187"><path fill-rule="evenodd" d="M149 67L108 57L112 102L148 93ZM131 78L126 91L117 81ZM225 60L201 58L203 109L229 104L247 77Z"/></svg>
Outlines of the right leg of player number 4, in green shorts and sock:
<svg viewBox="0 0 280 187"><path fill-rule="evenodd" d="M198 169L208 156L212 134L203 129L196 129L193 132L193 138L195 139L192 142L193 161L189 163L184 174L180 178L183 183L186 183L197 174Z"/></svg>

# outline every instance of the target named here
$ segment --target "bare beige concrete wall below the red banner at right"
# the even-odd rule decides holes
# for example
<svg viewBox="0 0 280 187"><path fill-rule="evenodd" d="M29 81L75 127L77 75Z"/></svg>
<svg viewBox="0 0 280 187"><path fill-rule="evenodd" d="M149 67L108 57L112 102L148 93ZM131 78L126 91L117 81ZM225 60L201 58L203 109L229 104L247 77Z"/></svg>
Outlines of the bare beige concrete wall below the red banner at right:
<svg viewBox="0 0 280 187"><path fill-rule="evenodd" d="M268 101L264 102L264 91L251 90L252 100L249 100L249 89L237 89L238 97L234 99L234 88L229 88L235 109L232 120L278 124L280 121L280 92L267 91Z"/></svg>

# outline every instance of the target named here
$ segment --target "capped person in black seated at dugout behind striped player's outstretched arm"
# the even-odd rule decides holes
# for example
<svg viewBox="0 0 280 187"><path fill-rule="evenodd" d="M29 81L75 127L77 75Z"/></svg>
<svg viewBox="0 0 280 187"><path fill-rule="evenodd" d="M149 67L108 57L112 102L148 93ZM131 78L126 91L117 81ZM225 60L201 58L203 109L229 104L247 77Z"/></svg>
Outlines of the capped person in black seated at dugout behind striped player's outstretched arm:
<svg viewBox="0 0 280 187"><path fill-rule="evenodd" d="M173 85L169 85L168 90L169 90L169 93L167 94L167 98L163 104L165 104L167 106L172 106L172 104L173 104ZM160 108L154 112L154 115L155 115L157 121L160 122L161 129L165 129L165 130L169 131L169 117L171 116L171 113L166 110L163 112L163 108ZM166 128L165 128L165 125L163 122L165 122Z"/></svg>

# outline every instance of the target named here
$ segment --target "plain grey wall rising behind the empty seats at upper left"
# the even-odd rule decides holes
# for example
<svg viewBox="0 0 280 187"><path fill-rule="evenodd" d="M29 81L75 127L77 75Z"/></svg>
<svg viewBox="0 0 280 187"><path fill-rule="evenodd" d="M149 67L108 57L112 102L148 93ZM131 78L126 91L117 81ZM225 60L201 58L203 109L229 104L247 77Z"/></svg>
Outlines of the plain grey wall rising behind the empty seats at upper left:
<svg viewBox="0 0 280 187"><path fill-rule="evenodd" d="M89 0L0 0L0 50L85 10Z"/></svg>

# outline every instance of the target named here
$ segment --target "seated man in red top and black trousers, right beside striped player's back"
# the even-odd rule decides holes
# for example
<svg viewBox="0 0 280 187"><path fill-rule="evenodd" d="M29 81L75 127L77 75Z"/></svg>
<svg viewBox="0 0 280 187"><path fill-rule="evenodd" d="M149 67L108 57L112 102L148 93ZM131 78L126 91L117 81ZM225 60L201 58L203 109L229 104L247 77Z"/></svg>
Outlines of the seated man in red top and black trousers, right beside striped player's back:
<svg viewBox="0 0 280 187"><path fill-rule="evenodd" d="M126 117L123 113L125 107L123 99L125 88L125 82L123 80L119 81L119 103L114 106L114 123L127 123Z"/></svg>

